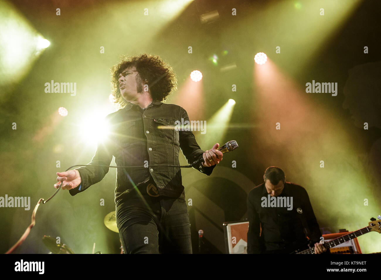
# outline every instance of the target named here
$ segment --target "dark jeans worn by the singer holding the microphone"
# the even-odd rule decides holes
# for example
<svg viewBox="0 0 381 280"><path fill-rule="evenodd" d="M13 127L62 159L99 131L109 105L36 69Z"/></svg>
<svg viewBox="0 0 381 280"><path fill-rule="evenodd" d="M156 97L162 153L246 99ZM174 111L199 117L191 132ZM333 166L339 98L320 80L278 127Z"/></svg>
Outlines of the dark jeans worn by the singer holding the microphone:
<svg viewBox="0 0 381 280"><path fill-rule="evenodd" d="M116 218L125 254L192 254L191 224L183 198L151 197L145 187L118 201Z"/></svg>

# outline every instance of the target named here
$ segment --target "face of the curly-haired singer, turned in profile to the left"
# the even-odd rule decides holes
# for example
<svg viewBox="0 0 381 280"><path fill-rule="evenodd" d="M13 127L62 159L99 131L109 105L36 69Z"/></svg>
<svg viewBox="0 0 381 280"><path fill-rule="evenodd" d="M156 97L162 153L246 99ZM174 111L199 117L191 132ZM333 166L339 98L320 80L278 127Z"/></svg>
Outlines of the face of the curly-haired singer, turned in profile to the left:
<svg viewBox="0 0 381 280"><path fill-rule="evenodd" d="M143 92L143 81L136 67L129 67L119 74L119 90L123 98L128 102L136 101L139 94Z"/></svg>

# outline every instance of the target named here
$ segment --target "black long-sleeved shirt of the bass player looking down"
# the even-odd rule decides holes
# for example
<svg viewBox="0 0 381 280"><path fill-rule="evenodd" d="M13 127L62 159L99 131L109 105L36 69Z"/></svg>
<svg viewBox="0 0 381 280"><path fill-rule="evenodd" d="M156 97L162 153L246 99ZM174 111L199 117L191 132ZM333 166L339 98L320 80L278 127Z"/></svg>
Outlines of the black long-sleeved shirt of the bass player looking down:
<svg viewBox="0 0 381 280"><path fill-rule="evenodd" d="M247 197L248 253L260 254L265 251L277 250L291 253L293 250L306 246L308 240L304 233L302 219L310 232L309 238L314 243L320 241L319 224L316 221L307 191L302 186L286 182L279 195L279 197L293 197L292 210L287 210L287 207L262 207L264 201L262 198L268 198L267 195L263 183L250 190ZM298 208L303 211L302 214L297 212ZM301 215L304 215L304 218ZM260 234L261 236L259 236Z"/></svg>

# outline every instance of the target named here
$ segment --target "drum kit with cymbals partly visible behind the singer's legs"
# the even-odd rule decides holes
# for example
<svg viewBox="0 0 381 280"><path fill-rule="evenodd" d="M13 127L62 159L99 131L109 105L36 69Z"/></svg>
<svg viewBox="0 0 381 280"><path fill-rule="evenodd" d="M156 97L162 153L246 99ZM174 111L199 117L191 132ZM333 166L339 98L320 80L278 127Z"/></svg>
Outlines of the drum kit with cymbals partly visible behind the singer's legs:
<svg viewBox="0 0 381 280"><path fill-rule="evenodd" d="M115 211L108 213L104 217L103 223L107 227L107 229L112 230L113 232L119 232L117 227ZM46 248L49 249L49 254L74 254L73 250L71 250L69 246L67 246L66 244L57 244L56 239L51 236L44 235L44 237L42 238L42 242L44 243ZM102 254L101 252L94 253L94 248L95 243L93 247L93 254ZM120 253L124 253L122 245L120 246Z"/></svg>

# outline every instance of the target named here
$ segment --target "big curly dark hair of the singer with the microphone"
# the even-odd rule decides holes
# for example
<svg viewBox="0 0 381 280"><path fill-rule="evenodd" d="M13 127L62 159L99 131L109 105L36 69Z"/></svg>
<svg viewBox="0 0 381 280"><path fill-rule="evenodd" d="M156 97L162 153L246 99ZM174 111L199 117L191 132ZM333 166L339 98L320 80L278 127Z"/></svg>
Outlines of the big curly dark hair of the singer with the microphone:
<svg viewBox="0 0 381 280"><path fill-rule="evenodd" d="M136 67L142 80L147 79L152 99L163 101L177 89L177 78L172 67L158 55L141 54L140 56L121 56L119 64L111 67L111 87L114 102L124 107L127 102L119 90L119 74L128 67Z"/></svg>

